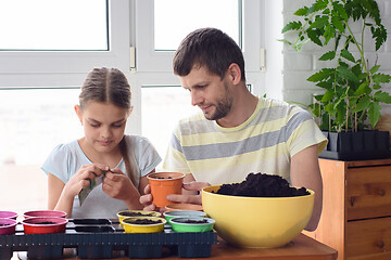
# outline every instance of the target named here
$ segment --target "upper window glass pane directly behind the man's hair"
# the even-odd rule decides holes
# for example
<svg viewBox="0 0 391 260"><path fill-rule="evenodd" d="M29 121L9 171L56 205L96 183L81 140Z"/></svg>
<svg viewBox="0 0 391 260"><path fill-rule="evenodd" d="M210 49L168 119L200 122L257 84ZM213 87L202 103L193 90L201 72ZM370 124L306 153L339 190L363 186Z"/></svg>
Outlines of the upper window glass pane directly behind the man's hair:
<svg viewBox="0 0 391 260"><path fill-rule="evenodd" d="M219 28L241 46L240 3L238 0L155 0L154 49L174 51L189 31L202 27Z"/></svg>

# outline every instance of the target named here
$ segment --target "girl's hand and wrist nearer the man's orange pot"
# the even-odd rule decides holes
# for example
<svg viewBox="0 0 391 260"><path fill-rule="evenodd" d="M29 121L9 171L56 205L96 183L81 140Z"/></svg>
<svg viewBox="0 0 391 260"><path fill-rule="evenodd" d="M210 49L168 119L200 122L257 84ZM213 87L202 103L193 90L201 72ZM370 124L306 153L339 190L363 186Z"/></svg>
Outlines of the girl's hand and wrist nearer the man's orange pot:
<svg viewBox="0 0 391 260"><path fill-rule="evenodd" d="M119 169L115 168L105 173L102 190L112 198L124 200L128 208L140 209L140 193Z"/></svg>

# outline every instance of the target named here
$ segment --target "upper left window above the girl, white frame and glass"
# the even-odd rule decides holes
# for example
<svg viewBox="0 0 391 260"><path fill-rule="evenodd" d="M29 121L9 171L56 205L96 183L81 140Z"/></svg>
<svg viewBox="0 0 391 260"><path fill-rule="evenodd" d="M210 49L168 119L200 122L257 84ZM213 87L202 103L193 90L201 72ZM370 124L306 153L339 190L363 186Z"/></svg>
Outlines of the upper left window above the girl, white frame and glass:
<svg viewBox="0 0 391 260"><path fill-rule="evenodd" d="M129 70L129 58L126 58L129 56L129 1L15 0L1 2L0 88L74 87L80 84L85 75L92 67L108 66L117 67L125 72ZM17 10L14 9L14 2L18 4ZM8 4L5 5L5 3ZM35 4L40 6L43 3L45 8L35 10ZM68 8L65 9L64 6ZM65 25L64 23L56 23L55 17L48 15L51 12L59 12L59 8L65 14ZM34 10L33 17L28 12L31 10ZM17 15L25 12L27 13L26 16ZM4 15L5 13L10 13L10 15ZM74 16L77 18L81 14L84 15L80 18L81 21L77 22L80 28L77 30L77 35L72 29L72 21ZM20 22L14 23L13 17L18 17ZM38 17L46 17L47 21L39 22ZM61 17L60 20L63 20ZM7 20L11 20L12 23ZM97 24L91 25L90 20ZM29 35L34 28L26 26L29 24L41 26L41 23L47 25L45 29L48 31L34 30L34 35ZM51 23L55 24L55 28L48 26ZM25 27L28 28L27 31L23 31ZM64 28L72 29L72 36L67 42L63 39L58 40L56 38L60 36L55 36L63 35ZM97 32L97 29L100 32ZM20 30L21 32L18 32ZM16 42L16 44L14 41L4 40L3 37L7 34L11 34L17 41L26 41L26 43ZM37 38L41 37L45 38L39 43ZM91 44L91 42L86 42L88 38L99 40ZM81 42L85 43L81 44ZM14 46L11 46L12 43ZM24 51L15 51L16 49L24 49ZM62 50L56 51L60 49Z"/></svg>

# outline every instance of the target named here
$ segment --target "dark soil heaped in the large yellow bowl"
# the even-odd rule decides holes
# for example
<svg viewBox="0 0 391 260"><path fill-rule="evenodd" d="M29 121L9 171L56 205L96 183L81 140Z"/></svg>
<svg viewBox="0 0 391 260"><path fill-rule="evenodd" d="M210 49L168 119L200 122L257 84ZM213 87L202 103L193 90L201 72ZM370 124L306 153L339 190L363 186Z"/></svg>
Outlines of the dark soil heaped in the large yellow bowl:
<svg viewBox="0 0 391 260"><path fill-rule="evenodd" d="M295 197L310 194L305 187L289 186L288 181L279 176L261 172L251 172L240 183L223 184L216 193L244 197Z"/></svg>

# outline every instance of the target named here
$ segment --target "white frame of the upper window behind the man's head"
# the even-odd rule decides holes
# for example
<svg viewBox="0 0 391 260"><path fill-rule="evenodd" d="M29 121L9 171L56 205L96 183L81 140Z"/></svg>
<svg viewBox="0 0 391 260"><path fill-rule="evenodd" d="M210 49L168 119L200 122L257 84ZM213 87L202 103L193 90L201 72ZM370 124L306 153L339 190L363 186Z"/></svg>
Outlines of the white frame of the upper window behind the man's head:
<svg viewBox="0 0 391 260"><path fill-rule="evenodd" d="M243 55L245 72L260 72L260 47L264 39L260 25L260 15L264 1L243 0ZM136 0L136 24L142 25L136 30L136 70L137 72L173 72L173 51L154 51L154 8L153 0ZM258 25L258 26L254 26ZM190 31L189 31L190 32Z"/></svg>

